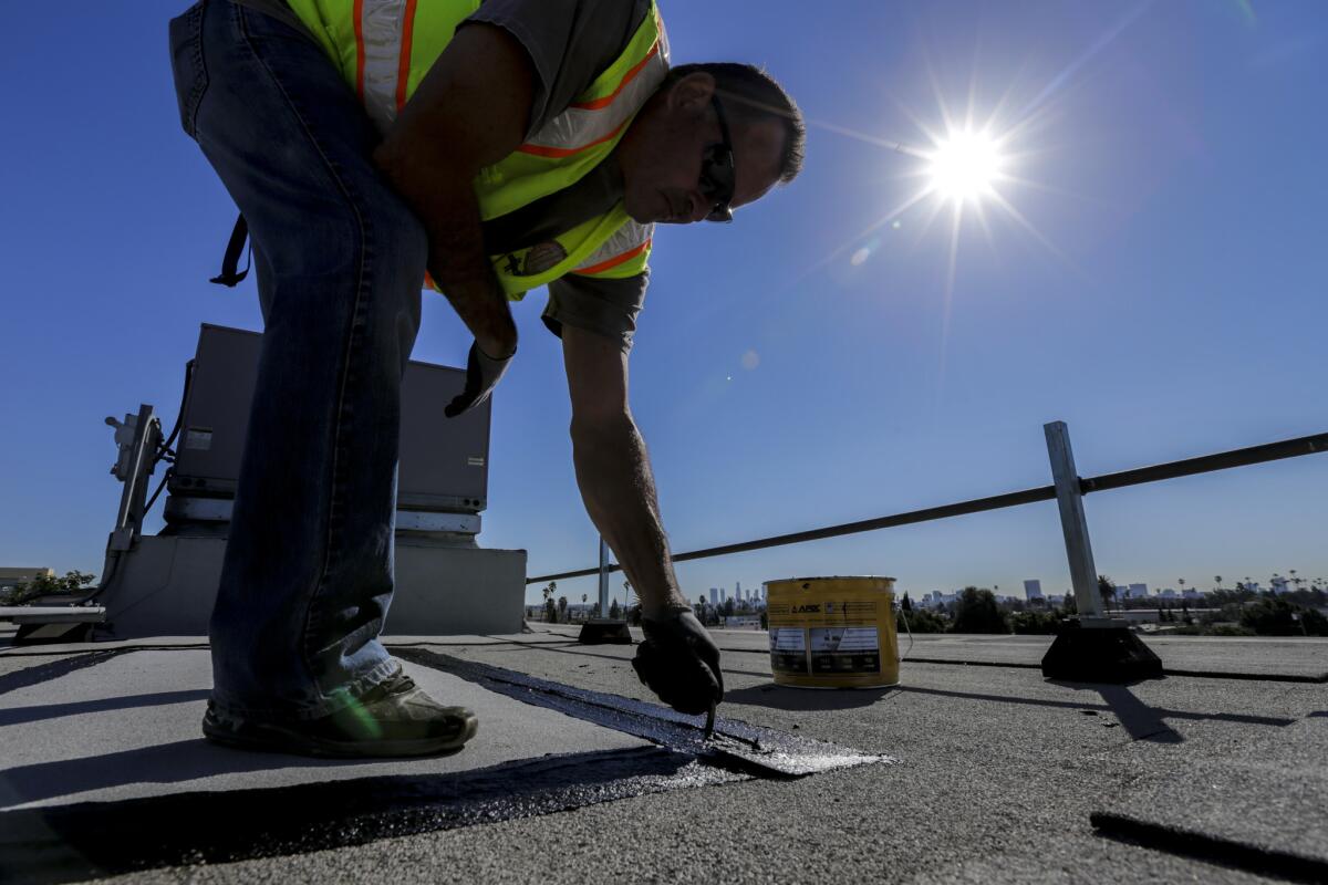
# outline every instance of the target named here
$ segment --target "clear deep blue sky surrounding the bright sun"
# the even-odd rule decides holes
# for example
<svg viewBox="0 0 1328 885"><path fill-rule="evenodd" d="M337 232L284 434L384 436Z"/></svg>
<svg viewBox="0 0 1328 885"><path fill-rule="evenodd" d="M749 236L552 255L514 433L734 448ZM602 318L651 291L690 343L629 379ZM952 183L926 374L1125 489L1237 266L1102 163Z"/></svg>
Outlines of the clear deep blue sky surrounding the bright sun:
<svg viewBox="0 0 1328 885"><path fill-rule="evenodd" d="M100 572L120 496L102 418L150 402L173 419L198 324L259 328L251 283L205 280L234 210L178 127L166 21L185 5L7 9L24 38L0 56L0 564ZM632 405L676 552L1045 484L1048 421L1082 475L1328 430L1328 5L661 9L675 62L768 65L813 122L791 187L655 241ZM950 211L891 214L919 162L872 143L927 146L940 102L1016 131L1020 180L999 191L1024 219L988 206L984 231L969 212L952 288ZM543 300L517 308L481 536L529 549L531 575L598 549ZM458 365L467 342L428 297L416 358ZM1207 586L1328 576L1324 502L1316 455L1086 508L1098 571ZM1068 584L1050 503L679 569L692 598L826 573Z"/></svg>

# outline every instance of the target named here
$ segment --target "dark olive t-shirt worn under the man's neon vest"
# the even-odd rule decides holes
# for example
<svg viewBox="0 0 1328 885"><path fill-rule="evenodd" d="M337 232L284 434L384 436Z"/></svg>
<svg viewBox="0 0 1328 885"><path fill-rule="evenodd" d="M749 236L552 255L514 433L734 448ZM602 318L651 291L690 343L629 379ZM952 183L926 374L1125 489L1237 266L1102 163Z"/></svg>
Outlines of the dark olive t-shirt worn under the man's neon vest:
<svg viewBox="0 0 1328 885"><path fill-rule="evenodd" d="M232 0L308 33L286 0ZM466 23L482 21L513 34L535 68L527 137L560 114L608 68L649 12L649 0L483 0ZM312 36L311 36L312 38ZM537 203L483 223L490 255L563 234L602 215L623 198L616 158L610 155L579 182ZM632 346L645 301L648 273L624 280L567 275L548 284L542 320L556 336L563 325Z"/></svg>

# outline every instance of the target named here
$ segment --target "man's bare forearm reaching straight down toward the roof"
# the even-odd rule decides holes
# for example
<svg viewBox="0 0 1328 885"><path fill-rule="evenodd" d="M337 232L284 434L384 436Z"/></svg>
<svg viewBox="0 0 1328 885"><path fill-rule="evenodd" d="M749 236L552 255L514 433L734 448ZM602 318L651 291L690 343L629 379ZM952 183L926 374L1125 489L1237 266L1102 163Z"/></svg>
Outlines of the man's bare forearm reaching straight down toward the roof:
<svg viewBox="0 0 1328 885"><path fill-rule="evenodd" d="M591 521L641 597L645 617L687 605L660 519L645 442L631 414L572 426L576 483Z"/></svg>

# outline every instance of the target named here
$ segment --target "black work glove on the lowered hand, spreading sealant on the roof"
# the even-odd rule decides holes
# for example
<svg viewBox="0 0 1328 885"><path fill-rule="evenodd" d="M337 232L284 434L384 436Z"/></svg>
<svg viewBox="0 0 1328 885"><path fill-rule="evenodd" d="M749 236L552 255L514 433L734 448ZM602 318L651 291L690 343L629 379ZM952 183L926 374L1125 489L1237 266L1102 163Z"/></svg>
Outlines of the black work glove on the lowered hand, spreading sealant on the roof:
<svg viewBox="0 0 1328 885"><path fill-rule="evenodd" d="M643 620L641 629L645 641L636 647L632 667L660 701L697 715L724 698L720 649L691 609L661 621Z"/></svg>

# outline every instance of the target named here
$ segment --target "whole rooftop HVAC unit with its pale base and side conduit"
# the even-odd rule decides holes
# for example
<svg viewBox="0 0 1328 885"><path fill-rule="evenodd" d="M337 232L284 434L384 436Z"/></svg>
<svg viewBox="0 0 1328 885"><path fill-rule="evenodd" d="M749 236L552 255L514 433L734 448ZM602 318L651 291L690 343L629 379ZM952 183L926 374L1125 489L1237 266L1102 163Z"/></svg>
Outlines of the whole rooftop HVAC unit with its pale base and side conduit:
<svg viewBox="0 0 1328 885"><path fill-rule="evenodd" d="M147 403L124 421L106 419L118 455L112 474L125 487L101 584L74 600L0 613L20 624L17 644L207 634L262 341L255 332L203 325L169 435ZM490 403L457 418L442 411L465 379L462 369L410 362L402 381L396 593L386 621L396 636L521 629L526 551L475 543L489 494ZM170 460L166 528L145 535L157 498L147 494L153 472Z"/></svg>

